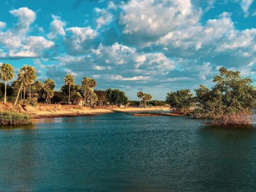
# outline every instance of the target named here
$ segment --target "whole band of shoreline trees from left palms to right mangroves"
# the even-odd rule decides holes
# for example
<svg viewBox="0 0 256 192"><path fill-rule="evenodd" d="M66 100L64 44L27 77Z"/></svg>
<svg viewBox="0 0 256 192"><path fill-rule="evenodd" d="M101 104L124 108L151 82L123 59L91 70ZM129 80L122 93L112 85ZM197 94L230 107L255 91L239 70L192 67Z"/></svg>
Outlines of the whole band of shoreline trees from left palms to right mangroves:
<svg viewBox="0 0 256 192"><path fill-rule="evenodd" d="M65 77L65 85L61 91L54 92L55 82L46 79L43 83L36 80L36 71L32 66L23 66L18 71L17 79L11 86L7 83L14 77L14 69L4 63L0 66L0 98L4 102L14 101L14 104L29 104L36 106L38 102L70 103L84 105L126 105L128 98L118 89L95 90L97 82L90 77L83 77L81 86L75 84L71 74ZM190 90L171 91L166 101L151 101L152 95L138 92L140 101L130 101L130 105L148 106L169 104L175 113L189 114L195 118L211 119L211 124L250 124L251 109L256 106L256 90L249 77L241 77L240 72L220 68L220 75L214 77L214 87L211 89L200 85L195 95ZM4 94L3 94L4 93ZM19 99L20 98L20 99ZM18 100L20 100L18 102ZM194 108L193 112L189 110Z"/></svg>

